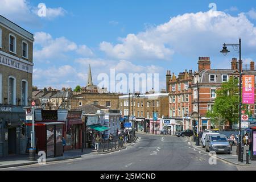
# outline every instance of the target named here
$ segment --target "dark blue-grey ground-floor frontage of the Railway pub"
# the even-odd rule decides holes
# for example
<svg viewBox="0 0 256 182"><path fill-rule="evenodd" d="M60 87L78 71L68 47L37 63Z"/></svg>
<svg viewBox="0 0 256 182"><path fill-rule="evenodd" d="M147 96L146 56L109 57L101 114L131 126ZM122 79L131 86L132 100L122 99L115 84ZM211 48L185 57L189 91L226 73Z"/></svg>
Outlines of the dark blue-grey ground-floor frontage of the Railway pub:
<svg viewBox="0 0 256 182"><path fill-rule="evenodd" d="M0 157L26 154L29 129L22 107L0 105Z"/></svg>

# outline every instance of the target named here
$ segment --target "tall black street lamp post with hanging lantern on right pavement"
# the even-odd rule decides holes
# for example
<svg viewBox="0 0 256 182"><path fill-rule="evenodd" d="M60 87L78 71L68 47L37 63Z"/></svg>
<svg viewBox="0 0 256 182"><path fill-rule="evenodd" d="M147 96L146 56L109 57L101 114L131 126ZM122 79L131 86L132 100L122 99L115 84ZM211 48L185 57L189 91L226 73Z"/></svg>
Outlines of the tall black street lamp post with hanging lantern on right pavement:
<svg viewBox="0 0 256 182"><path fill-rule="evenodd" d="M220 51L223 53L224 56L230 51L226 48L226 46L233 46L234 51L239 51L239 142L238 142L238 161L241 161L241 141L242 141L242 135L241 135L241 80L242 80L242 60L241 60L241 38L239 39L239 44L223 44L223 49Z"/></svg>

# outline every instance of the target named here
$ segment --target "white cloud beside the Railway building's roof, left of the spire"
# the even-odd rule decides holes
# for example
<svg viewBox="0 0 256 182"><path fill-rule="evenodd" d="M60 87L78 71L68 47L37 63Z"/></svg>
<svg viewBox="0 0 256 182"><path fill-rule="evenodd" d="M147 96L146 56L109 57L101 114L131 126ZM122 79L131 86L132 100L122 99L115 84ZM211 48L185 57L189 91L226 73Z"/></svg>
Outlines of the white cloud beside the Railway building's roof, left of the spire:
<svg viewBox="0 0 256 182"><path fill-rule="evenodd" d="M46 61L67 59L68 52L76 52L83 56L93 56L93 52L85 45L77 46L65 37L53 39L46 32L35 33L34 60Z"/></svg>

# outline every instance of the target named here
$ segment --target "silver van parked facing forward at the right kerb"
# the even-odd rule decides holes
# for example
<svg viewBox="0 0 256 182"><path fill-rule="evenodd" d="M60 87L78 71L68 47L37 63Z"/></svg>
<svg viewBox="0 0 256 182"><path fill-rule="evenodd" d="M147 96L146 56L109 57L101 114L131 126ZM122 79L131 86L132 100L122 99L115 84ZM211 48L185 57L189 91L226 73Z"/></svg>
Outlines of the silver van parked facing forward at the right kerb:
<svg viewBox="0 0 256 182"><path fill-rule="evenodd" d="M230 154L230 144L226 135L207 135L205 138L205 151L215 151Z"/></svg>

